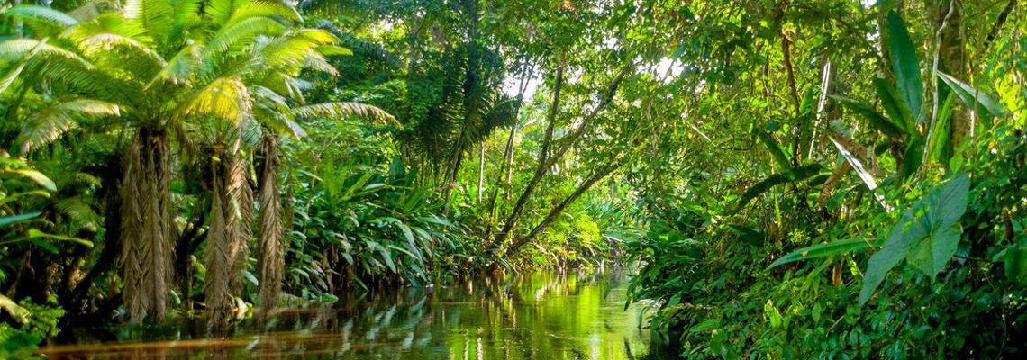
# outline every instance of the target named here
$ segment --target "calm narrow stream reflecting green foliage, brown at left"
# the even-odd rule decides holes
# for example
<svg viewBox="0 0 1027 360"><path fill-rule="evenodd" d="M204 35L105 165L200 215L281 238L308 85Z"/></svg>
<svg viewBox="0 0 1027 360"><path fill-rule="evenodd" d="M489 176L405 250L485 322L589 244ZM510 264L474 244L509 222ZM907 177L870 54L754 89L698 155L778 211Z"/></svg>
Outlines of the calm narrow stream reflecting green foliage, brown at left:
<svg viewBox="0 0 1027 360"><path fill-rule="evenodd" d="M622 272L538 273L286 309L207 337L178 326L72 330L50 359L661 359Z"/></svg>

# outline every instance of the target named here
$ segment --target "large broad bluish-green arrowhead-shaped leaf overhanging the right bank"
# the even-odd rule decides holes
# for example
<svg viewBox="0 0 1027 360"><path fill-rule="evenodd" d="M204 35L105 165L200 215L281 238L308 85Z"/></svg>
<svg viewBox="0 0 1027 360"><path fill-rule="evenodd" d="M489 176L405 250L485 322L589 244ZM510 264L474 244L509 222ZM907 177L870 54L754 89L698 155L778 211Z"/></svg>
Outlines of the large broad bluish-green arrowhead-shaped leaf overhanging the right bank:
<svg viewBox="0 0 1027 360"><path fill-rule="evenodd" d="M903 258L930 277L945 270L959 243L962 229L957 223L966 211L968 191L969 176L958 174L933 188L912 209L903 213L881 250L870 256L860 305L870 299L887 272Z"/></svg>

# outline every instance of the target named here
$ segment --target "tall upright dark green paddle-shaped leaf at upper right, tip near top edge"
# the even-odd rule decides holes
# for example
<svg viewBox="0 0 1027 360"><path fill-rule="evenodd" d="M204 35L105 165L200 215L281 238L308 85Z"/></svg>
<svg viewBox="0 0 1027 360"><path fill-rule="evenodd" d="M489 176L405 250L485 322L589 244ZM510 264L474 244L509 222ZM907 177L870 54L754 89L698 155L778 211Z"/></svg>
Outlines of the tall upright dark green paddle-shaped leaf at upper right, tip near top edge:
<svg viewBox="0 0 1027 360"><path fill-rule="evenodd" d="M909 106L913 119L920 122L923 108L923 84L920 82L920 61L916 45L910 39L906 22L895 10L888 12L888 39L891 45L891 67L896 72L899 93Z"/></svg>

